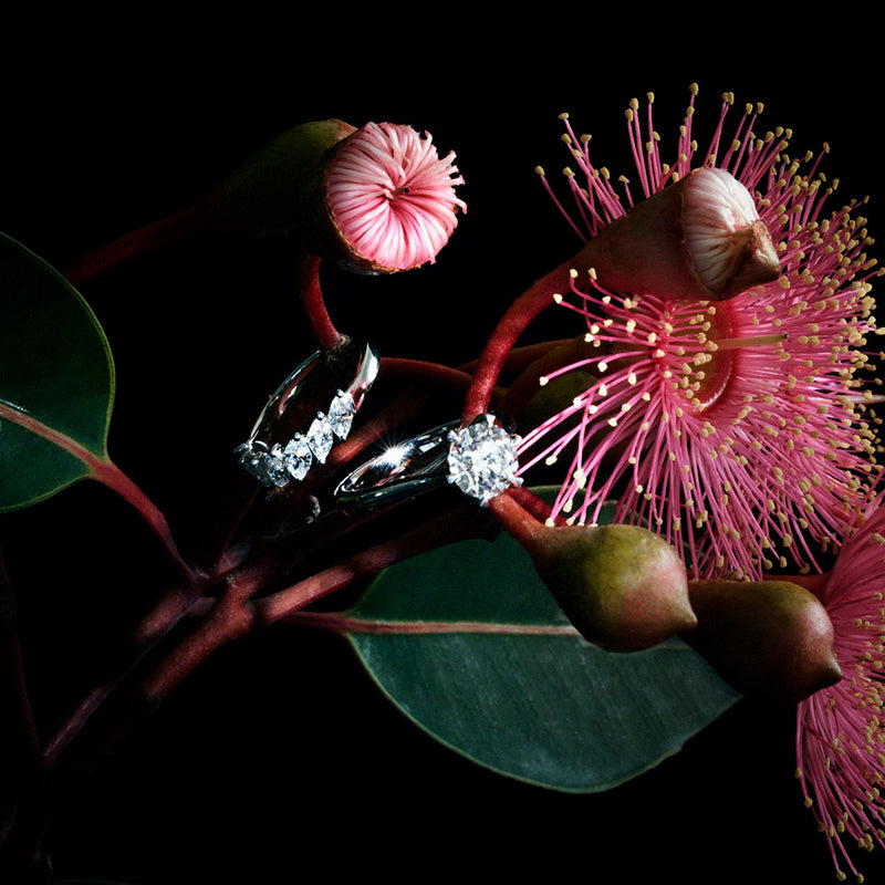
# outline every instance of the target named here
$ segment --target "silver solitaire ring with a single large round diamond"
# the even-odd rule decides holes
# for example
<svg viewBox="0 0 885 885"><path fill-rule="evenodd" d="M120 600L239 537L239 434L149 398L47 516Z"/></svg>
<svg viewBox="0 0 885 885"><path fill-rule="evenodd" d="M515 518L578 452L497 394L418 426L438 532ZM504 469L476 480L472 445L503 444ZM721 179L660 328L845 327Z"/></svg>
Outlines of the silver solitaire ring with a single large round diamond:
<svg viewBox="0 0 885 885"><path fill-rule="evenodd" d="M480 415L467 427L445 424L356 468L339 485L336 502L345 512L366 512L454 485L486 504L522 485L517 476L519 444L493 415Z"/></svg>

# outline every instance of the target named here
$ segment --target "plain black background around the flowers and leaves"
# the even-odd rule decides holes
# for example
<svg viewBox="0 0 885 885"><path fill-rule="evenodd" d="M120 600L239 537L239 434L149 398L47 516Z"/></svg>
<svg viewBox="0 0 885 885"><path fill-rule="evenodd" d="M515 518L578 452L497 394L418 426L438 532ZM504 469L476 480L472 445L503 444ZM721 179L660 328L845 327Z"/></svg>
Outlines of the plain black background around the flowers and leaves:
<svg viewBox="0 0 885 885"><path fill-rule="evenodd" d="M516 294L575 251L533 171L565 165L556 115L569 111L593 134L594 156L629 173L628 100L655 92L666 147L697 81L708 122L730 90L738 104L764 102L768 125L792 127L794 153L829 142L827 173L842 199L871 195L876 233L883 76L865 22L802 31L753 14L752 28L699 19L646 35L574 10L483 28L447 10L429 23L393 12L43 21L19 45L10 31L0 229L64 267L191 204L294 123L408 123L456 150L468 212L433 268L332 274L330 308L385 354L457 364ZM231 481L230 451L256 404L309 346L290 270L279 242L194 243L83 287L116 361L111 454L185 544ZM111 631L168 576L146 535L93 483L0 520L40 716L52 718ZM793 768L790 712L745 702L622 788L549 792L438 746L342 641L274 629L217 654L176 690L62 809L49 846L60 874L138 885L368 870L409 881L527 871L831 882ZM868 883L885 881L882 857L861 860Z"/></svg>

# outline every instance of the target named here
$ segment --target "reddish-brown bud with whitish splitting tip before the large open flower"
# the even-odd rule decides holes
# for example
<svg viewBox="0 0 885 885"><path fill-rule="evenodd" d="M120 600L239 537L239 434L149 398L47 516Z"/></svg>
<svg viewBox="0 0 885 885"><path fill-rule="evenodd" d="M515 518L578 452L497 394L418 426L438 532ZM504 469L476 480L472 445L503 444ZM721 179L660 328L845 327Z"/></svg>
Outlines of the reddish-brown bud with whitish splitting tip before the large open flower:
<svg viewBox="0 0 885 885"><path fill-rule="evenodd" d="M725 300L780 275L766 222L723 169L693 169L593 237L572 261L605 289Z"/></svg>

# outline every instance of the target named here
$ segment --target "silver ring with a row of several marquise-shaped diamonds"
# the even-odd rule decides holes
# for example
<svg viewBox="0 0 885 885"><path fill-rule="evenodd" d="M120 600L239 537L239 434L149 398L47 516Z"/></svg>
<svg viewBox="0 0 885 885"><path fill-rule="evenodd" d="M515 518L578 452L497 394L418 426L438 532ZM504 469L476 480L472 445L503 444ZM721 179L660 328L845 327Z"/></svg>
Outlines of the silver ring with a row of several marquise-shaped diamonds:
<svg viewBox="0 0 885 885"><path fill-rule="evenodd" d="M249 439L237 447L242 467L270 489L303 480L314 464L325 464L336 440L346 439L378 366L371 344L347 336L309 356L268 399ZM331 398L330 391L335 392Z"/></svg>

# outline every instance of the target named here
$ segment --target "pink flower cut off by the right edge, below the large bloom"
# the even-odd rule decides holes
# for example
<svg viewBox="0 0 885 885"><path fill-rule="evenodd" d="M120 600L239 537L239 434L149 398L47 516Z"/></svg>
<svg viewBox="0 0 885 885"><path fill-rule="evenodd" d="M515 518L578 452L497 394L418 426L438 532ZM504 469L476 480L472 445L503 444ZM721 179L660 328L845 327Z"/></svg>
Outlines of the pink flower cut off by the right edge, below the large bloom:
<svg viewBox="0 0 885 885"><path fill-rule="evenodd" d="M842 546L816 595L833 624L844 678L799 705L796 777L805 804L830 840L839 877L858 882L846 841L885 846L885 499L879 494Z"/></svg>

